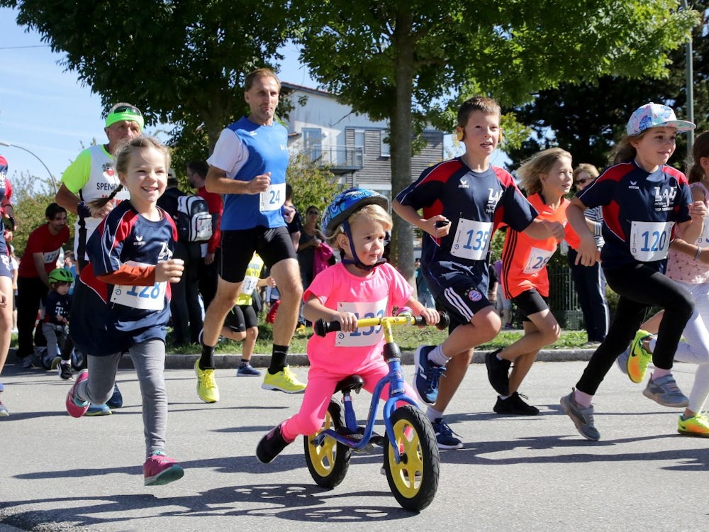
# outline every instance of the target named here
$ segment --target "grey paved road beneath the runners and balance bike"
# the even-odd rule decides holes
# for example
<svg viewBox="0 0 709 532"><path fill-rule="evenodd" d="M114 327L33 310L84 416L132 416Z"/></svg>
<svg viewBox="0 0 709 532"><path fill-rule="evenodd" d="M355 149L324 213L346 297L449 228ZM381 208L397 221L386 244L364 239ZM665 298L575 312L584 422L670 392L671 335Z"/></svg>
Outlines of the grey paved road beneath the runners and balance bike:
<svg viewBox="0 0 709 532"><path fill-rule="evenodd" d="M177 359L175 359L177 362ZM178 365L177 363L174 365ZM584 362L540 362L522 392L540 416L492 414L484 367L473 365L447 417L465 442L442 452L440 487L420 514L399 508L379 473L381 450L357 455L339 487L308 475L300 441L270 465L257 441L293 414L299 396L260 389L260 379L218 370L221 401L196 399L190 370L167 370L169 454L179 482L144 487L138 382L118 382L125 407L72 419L54 373L6 366L0 419L0 531L704 531L709 528L709 440L676 434L677 411L642 396L615 368L596 401L602 440L582 439L559 397ZM295 368L305 377L306 368ZM411 366L406 372L411 375ZM693 367L678 365L688 392ZM366 399L366 400L365 400ZM360 416L367 394L357 398Z"/></svg>

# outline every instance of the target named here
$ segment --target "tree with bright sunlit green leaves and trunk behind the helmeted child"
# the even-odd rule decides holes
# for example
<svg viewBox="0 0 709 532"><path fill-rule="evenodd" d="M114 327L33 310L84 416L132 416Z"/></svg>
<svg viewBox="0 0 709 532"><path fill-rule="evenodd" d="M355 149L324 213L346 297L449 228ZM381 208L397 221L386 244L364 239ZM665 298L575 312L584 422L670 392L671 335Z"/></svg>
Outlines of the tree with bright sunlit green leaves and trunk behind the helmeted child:
<svg viewBox="0 0 709 532"><path fill-rule="evenodd" d="M301 61L340 101L388 120L393 192L411 182L427 121L452 131L453 101L531 94L604 74L659 77L696 13L671 0L293 0ZM392 259L413 277L413 239L395 219Z"/></svg>

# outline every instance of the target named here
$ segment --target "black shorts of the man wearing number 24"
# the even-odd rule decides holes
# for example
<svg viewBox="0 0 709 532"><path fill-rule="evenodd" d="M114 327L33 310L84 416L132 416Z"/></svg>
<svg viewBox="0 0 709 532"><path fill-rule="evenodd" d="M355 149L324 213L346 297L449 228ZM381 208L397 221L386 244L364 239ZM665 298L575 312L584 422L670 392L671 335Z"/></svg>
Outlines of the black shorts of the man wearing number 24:
<svg viewBox="0 0 709 532"><path fill-rule="evenodd" d="M295 259L296 250L286 226L273 229L258 226L239 231L222 231L219 277L242 282L254 252L270 268L281 260Z"/></svg>

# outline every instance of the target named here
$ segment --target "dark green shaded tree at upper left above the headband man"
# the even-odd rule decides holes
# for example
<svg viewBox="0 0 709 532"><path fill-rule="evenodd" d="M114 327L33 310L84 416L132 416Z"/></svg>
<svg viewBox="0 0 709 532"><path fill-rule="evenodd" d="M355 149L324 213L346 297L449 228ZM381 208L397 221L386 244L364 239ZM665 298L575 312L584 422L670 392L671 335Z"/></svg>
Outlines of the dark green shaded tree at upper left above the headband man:
<svg viewBox="0 0 709 532"><path fill-rule="evenodd" d="M291 27L281 2L0 0L101 96L173 123L184 160L204 158L246 106L245 75L274 66ZM205 145L206 141L206 145Z"/></svg>

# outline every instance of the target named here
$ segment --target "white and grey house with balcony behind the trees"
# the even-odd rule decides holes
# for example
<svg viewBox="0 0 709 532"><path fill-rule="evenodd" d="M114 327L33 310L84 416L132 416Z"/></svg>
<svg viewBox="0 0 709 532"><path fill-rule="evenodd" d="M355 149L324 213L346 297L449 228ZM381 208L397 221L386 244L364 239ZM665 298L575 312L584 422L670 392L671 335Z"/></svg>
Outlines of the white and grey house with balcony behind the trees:
<svg viewBox="0 0 709 532"><path fill-rule="evenodd" d="M327 165L348 187L376 190L391 199L391 162L386 121L372 121L340 104L330 92L283 82L281 96L294 109L286 123L291 152L304 151ZM426 145L411 159L411 179L443 160L443 132L426 129Z"/></svg>

